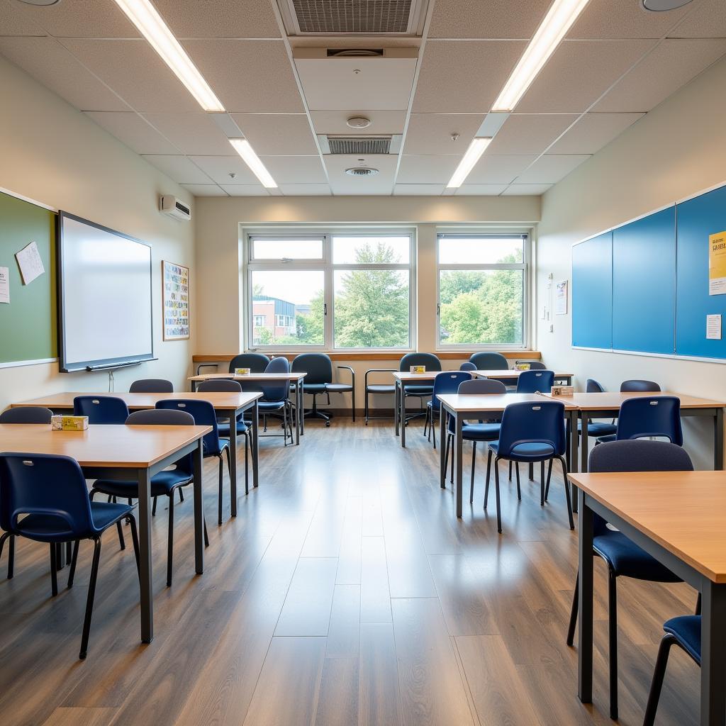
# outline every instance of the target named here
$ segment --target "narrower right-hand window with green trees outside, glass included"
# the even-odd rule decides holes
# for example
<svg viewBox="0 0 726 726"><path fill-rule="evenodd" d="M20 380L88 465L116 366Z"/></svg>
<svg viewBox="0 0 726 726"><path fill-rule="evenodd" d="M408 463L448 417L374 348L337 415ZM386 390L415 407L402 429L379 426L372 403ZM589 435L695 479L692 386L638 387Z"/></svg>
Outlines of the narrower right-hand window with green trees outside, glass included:
<svg viewBox="0 0 726 726"><path fill-rule="evenodd" d="M523 348L526 234L439 234L439 346Z"/></svg>

